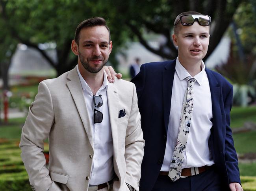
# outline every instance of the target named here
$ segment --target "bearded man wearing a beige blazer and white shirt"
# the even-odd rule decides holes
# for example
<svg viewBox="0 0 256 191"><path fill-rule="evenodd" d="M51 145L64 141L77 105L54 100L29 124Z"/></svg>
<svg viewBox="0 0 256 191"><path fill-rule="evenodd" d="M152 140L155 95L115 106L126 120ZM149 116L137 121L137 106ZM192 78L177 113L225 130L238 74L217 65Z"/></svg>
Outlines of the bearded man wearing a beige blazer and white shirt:
<svg viewBox="0 0 256 191"><path fill-rule="evenodd" d="M106 21L80 23L71 49L78 65L39 84L22 128L32 190L138 191L144 140L136 89L124 80L109 83L102 69L112 49Z"/></svg>

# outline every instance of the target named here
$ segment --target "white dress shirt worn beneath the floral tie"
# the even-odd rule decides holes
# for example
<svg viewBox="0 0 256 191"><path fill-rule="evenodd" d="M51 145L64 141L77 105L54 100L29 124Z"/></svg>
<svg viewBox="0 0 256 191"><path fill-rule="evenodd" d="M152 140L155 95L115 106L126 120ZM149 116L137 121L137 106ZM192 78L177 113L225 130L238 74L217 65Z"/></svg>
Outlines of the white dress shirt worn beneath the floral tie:
<svg viewBox="0 0 256 191"><path fill-rule="evenodd" d="M182 168L210 166L214 164L208 147L208 140L211 134L210 129L212 127L211 92L203 61L201 68L202 71L193 76L197 81L193 85L193 113ZM183 98L187 89L186 77L192 78L177 58L173 80L167 143L161 171L170 170L173 150L179 132Z"/></svg>

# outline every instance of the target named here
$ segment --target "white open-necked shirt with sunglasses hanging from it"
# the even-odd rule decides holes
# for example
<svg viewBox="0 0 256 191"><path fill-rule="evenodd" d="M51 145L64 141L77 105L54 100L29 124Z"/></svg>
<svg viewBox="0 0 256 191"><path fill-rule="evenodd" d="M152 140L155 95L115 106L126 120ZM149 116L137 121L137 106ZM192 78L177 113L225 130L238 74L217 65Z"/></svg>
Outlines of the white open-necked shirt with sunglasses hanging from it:
<svg viewBox="0 0 256 191"><path fill-rule="evenodd" d="M92 128L94 139L93 166L89 180L89 185L98 185L108 182L109 180L112 180L114 177L113 140L111 134L107 99L107 89L109 82L107 80L106 73L104 73L103 84L95 94L96 96L101 95L102 97L103 105L101 107L98 107L97 110L103 113L103 120L101 123L94 124L93 93L89 85L83 79L81 73L78 70L78 67L76 68L83 88L83 95L85 98L89 118L91 119L90 125Z"/></svg>

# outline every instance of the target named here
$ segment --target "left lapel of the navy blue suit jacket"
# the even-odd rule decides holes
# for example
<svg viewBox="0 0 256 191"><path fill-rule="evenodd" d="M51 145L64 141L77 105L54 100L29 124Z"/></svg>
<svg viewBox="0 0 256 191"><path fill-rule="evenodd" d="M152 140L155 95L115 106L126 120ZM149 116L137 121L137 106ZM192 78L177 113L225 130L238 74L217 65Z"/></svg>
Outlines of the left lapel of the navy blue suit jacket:
<svg viewBox="0 0 256 191"><path fill-rule="evenodd" d="M173 78L175 73L176 59L169 62L163 71L163 118L165 131L167 133L169 116L171 111L171 98L173 90Z"/></svg>

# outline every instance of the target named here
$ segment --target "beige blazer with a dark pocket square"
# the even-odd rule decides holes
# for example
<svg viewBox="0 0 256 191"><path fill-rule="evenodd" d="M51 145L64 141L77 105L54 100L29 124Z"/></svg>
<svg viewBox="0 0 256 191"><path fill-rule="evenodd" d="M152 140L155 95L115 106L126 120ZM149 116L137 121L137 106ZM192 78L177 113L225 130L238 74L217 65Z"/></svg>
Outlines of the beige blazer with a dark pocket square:
<svg viewBox="0 0 256 191"><path fill-rule="evenodd" d="M114 84L109 83L107 95L117 176L111 190L128 191L128 183L139 191L144 140L135 85L115 80ZM126 115L118 118L121 109L125 109ZM48 169L43 155L43 140L47 137L50 152ZM93 147L76 67L58 78L41 82L20 140L21 157L32 189L87 191Z"/></svg>

